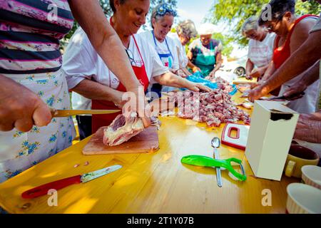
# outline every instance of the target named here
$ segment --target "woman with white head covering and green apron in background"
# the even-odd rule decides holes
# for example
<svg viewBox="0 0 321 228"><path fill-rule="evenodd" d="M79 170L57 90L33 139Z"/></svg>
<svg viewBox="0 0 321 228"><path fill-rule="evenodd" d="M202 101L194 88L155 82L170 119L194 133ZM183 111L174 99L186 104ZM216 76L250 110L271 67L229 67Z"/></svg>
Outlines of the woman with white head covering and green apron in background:
<svg viewBox="0 0 321 228"><path fill-rule="evenodd" d="M212 38L214 31L213 24L202 24L198 31L200 38L190 43L187 54L190 61L200 68L203 76L210 78L214 78L222 64L222 44Z"/></svg>

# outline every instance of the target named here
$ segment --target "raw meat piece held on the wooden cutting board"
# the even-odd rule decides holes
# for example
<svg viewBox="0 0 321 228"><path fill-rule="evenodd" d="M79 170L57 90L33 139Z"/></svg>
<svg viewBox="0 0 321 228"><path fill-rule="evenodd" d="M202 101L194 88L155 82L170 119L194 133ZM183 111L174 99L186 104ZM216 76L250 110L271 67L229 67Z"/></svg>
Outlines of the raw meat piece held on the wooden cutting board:
<svg viewBox="0 0 321 228"><path fill-rule="evenodd" d="M117 115L113 123L103 130L103 144L120 145L143 130L143 121L137 113L131 113L127 119L123 114Z"/></svg>

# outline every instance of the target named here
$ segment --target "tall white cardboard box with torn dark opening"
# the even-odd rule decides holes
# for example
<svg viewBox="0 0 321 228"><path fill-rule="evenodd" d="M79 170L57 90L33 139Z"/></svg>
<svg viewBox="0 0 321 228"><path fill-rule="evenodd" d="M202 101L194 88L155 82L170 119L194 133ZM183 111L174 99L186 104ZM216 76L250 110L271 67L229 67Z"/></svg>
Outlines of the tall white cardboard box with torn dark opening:
<svg viewBox="0 0 321 228"><path fill-rule="evenodd" d="M298 118L280 101L255 100L245 149L255 177L281 180Z"/></svg>

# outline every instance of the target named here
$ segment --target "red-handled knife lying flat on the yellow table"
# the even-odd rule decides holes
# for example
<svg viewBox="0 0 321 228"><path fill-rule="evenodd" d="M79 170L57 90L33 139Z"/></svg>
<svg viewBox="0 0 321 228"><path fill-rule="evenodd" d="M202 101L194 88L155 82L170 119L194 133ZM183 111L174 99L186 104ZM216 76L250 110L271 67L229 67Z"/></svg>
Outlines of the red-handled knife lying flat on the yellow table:
<svg viewBox="0 0 321 228"><path fill-rule="evenodd" d="M102 177L103 175L106 175L108 173L119 170L121 167L121 165L112 165L110 167L104 167L101 170L84 173L83 175L76 175L73 177L67 177L61 180L56 180L54 182L49 182L44 185L34 187L30 190L26 190L21 194L21 197L23 197L24 199L33 199L42 195L47 195L48 191L51 189L60 190L63 187L67 187L69 185L86 183L98 177Z"/></svg>

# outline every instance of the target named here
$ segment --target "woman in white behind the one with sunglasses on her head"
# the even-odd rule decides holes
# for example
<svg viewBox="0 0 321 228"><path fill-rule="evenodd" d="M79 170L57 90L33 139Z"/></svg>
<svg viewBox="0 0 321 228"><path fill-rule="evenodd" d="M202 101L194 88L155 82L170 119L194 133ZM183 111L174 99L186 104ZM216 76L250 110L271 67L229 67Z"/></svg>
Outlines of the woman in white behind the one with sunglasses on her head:
<svg viewBox="0 0 321 228"><path fill-rule="evenodd" d="M186 67L193 69L193 71L200 71L200 68L195 66L190 60L188 59L185 51L185 45L190 41L190 38L194 38L197 36L198 32L196 31L195 24L193 21L185 20L181 21L176 26L175 33L168 33L170 38L173 38L176 45L176 50L178 53L178 62L180 69L185 73L185 76L189 76L190 72L187 71Z"/></svg>

